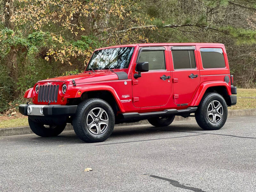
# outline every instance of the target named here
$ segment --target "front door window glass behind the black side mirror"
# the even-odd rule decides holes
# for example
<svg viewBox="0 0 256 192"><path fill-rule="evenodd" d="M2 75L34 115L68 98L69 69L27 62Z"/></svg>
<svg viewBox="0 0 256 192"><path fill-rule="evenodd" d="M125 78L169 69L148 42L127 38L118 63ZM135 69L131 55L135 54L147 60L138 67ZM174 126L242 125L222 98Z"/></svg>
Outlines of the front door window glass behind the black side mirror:
<svg viewBox="0 0 256 192"><path fill-rule="evenodd" d="M164 51L142 51L138 62L148 62L149 70L164 70Z"/></svg>

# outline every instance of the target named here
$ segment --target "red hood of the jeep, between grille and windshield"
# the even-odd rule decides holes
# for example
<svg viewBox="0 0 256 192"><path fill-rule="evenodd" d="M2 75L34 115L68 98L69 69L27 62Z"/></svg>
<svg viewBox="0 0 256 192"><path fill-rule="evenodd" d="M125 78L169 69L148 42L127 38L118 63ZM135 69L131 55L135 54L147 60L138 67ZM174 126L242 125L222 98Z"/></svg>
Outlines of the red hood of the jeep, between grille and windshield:
<svg viewBox="0 0 256 192"><path fill-rule="evenodd" d="M97 82L97 81L110 81L110 80L118 80L118 76L116 73L111 71L96 71L96 72L84 72L77 75L69 75L69 76L60 76L54 77L51 79L45 79L41 82L52 82L52 81L61 81L66 82L67 84L72 84L72 80L76 81L76 84L81 83L90 83L90 82Z"/></svg>

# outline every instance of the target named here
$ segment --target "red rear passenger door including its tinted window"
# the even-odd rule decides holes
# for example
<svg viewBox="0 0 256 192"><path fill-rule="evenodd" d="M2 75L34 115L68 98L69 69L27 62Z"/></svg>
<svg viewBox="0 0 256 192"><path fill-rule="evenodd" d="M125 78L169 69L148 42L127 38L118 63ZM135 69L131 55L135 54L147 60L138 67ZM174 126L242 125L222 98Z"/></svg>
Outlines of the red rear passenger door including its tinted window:
<svg viewBox="0 0 256 192"><path fill-rule="evenodd" d="M172 46L172 82L174 103L186 106L200 84L195 46Z"/></svg>

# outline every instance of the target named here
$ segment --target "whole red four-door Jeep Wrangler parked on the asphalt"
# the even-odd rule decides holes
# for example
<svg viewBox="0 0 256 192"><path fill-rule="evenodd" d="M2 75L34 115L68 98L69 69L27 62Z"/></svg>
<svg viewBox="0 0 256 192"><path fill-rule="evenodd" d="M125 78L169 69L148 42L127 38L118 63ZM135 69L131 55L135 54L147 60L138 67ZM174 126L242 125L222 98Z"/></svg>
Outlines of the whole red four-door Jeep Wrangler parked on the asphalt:
<svg viewBox="0 0 256 192"><path fill-rule="evenodd" d="M115 124L148 119L168 126L195 113L205 130L220 129L236 87L223 44L129 44L97 49L81 74L39 81L20 105L34 133L59 135L71 123L87 142L106 140Z"/></svg>

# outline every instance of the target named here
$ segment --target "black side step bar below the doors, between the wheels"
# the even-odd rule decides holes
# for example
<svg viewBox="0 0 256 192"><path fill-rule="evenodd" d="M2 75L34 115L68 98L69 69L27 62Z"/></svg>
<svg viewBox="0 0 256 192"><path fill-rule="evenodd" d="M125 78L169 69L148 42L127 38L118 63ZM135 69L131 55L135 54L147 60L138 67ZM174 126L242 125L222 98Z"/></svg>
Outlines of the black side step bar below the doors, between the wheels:
<svg viewBox="0 0 256 192"><path fill-rule="evenodd" d="M165 109L163 111L157 111L157 112L149 112L149 113L122 113L120 114L123 116L124 120L135 120L135 119L148 119L150 117L162 117L162 116L170 116L170 115L180 115L183 114L185 116L189 116L190 113L194 113L196 111L197 107L189 107L186 109ZM188 115L187 115L188 114Z"/></svg>

